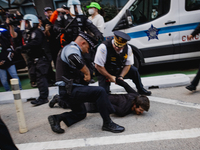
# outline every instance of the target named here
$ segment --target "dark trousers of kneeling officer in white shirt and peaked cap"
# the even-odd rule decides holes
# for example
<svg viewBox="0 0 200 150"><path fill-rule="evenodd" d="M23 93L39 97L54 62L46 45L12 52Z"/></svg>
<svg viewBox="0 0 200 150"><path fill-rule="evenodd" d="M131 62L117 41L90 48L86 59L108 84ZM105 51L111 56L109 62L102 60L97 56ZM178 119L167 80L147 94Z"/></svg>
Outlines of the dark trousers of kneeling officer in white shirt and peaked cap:
<svg viewBox="0 0 200 150"><path fill-rule="evenodd" d="M116 74L114 76L119 76L119 74ZM106 92L109 93L110 82L108 82L106 77L101 74L98 75L97 78L98 78L99 86L103 87L106 90ZM131 66L129 72L125 75L124 78L132 79L133 83L135 83L136 88L138 90L142 90L144 88L138 69L135 66Z"/></svg>

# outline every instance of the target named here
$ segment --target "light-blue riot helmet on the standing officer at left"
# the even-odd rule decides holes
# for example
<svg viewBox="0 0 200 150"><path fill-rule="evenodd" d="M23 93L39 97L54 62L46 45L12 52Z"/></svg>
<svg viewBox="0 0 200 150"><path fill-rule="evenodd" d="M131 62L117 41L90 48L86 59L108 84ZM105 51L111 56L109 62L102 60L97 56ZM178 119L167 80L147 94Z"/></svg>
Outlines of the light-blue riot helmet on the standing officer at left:
<svg viewBox="0 0 200 150"><path fill-rule="evenodd" d="M23 21L21 23L21 30L25 30L25 21L29 21L30 28L34 28L35 24L37 25L39 24L39 20L37 16L33 14L27 14L23 17Z"/></svg>

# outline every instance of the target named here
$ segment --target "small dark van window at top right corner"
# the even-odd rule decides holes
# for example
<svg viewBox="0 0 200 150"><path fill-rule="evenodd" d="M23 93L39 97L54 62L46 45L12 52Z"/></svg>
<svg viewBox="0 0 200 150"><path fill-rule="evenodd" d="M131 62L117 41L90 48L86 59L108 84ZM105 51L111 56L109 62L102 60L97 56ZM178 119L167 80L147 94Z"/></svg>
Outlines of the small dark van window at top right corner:
<svg viewBox="0 0 200 150"><path fill-rule="evenodd" d="M185 10L193 11L200 9L200 0L186 0L185 1Z"/></svg>

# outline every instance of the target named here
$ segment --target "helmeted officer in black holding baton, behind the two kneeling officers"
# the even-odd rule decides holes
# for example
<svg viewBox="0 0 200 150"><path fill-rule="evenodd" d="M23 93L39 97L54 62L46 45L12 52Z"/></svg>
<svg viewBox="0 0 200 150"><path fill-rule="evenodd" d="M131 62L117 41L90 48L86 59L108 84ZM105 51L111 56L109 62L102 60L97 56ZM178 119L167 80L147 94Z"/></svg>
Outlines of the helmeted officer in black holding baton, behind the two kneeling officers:
<svg viewBox="0 0 200 150"><path fill-rule="evenodd" d="M79 0L69 0L68 7L70 8L70 14L58 16L55 22L54 30L64 33L61 41L63 46L69 44L71 41L74 41L78 36L79 30L90 30L96 38L103 40L102 33L95 25L93 25L92 21L90 21L87 16L83 15L80 4ZM70 22L72 23L67 29L65 29Z"/></svg>

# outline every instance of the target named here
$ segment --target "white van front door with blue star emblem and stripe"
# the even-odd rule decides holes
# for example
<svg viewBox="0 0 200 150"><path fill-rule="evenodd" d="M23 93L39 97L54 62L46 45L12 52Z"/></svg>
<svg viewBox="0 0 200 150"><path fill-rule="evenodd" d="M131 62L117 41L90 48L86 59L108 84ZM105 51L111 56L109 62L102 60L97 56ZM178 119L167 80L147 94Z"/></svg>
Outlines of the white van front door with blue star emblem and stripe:
<svg viewBox="0 0 200 150"><path fill-rule="evenodd" d="M129 7L133 27L124 31L131 37L129 44L142 53L145 64L174 59L178 6L178 0L136 0Z"/></svg>

